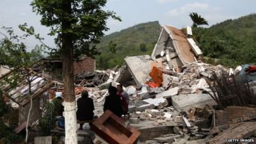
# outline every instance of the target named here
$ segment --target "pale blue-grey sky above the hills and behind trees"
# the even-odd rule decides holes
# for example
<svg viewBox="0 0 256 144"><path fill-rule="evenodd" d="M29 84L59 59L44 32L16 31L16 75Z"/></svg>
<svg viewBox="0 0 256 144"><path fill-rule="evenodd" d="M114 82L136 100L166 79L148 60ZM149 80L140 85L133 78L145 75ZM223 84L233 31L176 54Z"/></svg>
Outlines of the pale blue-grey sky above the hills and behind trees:
<svg viewBox="0 0 256 144"><path fill-rule="evenodd" d="M0 0L0 26L13 27L20 34L17 26L26 22L45 37L46 44L54 46L53 38L47 36L49 28L40 25L40 15L32 12L30 3L31 0ZM190 12L202 15L211 26L256 13L255 6L255 0L108 0L104 10L113 10L122 22L109 19L106 34L154 20L177 28L191 26ZM36 44L36 40L26 41L29 48Z"/></svg>

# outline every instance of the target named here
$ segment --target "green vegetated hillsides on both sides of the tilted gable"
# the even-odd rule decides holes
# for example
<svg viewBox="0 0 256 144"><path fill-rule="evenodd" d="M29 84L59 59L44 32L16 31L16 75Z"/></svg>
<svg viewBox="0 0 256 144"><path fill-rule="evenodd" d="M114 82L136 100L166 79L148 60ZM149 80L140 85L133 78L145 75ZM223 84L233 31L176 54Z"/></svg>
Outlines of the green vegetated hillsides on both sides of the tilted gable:
<svg viewBox="0 0 256 144"><path fill-rule="evenodd" d="M102 52L97 56L97 68L122 65L125 56L151 54L160 31L159 22L154 21L104 36L97 45ZM255 63L256 14L225 20L210 28L193 28L193 37L209 63L227 67ZM109 51L113 45L116 53Z"/></svg>

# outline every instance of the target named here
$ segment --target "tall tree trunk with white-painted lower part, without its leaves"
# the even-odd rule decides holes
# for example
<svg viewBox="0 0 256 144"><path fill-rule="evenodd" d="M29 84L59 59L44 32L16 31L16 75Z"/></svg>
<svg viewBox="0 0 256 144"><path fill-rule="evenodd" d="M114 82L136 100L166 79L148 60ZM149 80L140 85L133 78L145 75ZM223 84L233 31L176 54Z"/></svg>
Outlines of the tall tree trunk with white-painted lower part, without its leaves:
<svg viewBox="0 0 256 144"><path fill-rule="evenodd" d="M71 14L71 2L63 1L63 10ZM65 143L77 144L76 101L74 95L74 68L72 35L67 31L71 29L71 22L63 18L61 22L62 47L61 58L64 81L64 116L65 116Z"/></svg>

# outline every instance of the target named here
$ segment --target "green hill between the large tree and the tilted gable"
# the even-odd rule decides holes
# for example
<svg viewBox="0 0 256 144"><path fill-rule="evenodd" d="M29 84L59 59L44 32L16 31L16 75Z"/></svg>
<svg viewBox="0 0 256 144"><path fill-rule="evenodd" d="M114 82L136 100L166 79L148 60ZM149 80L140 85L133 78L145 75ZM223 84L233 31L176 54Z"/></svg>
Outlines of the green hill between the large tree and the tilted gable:
<svg viewBox="0 0 256 144"><path fill-rule="evenodd" d="M100 56L96 56L97 68L112 68L122 65L125 56L151 54L161 26L158 21L132 26L119 32L103 36L97 45ZM111 45L116 45L116 52L109 51Z"/></svg>

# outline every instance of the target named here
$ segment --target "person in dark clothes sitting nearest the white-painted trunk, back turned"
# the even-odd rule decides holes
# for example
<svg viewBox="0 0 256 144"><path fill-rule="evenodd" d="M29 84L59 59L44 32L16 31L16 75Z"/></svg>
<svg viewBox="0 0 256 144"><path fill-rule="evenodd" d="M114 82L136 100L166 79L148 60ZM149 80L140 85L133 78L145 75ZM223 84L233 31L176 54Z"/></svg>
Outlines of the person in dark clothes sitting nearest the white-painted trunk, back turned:
<svg viewBox="0 0 256 144"><path fill-rule="evenodd" d="M81 95L82 97L77 100L77 120L93 120L93 99L88 97L86 90L84 90ZM92 123L89 123L89 125L91 126ZM83 129L83 124L80 124L79 129Z"/></svg>

